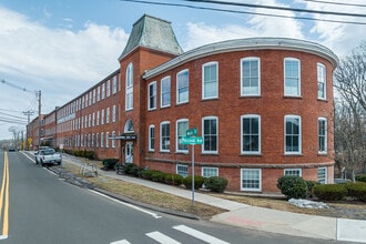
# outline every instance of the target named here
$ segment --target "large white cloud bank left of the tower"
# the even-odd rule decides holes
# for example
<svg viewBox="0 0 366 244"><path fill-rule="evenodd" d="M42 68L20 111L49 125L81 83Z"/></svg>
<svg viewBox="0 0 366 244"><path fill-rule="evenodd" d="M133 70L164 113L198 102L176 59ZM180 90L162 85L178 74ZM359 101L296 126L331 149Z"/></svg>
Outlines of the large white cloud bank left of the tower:
<svg viewBox="0 0 366 244"><path fill-rule="evenodd" d="M92 22L78 32L49 29L4 8L0 19L0 80L41 90L44 113L115 71L129 37L120 28ZM0 85L0 109L24 111L32 105L33 95Z"/></svg>

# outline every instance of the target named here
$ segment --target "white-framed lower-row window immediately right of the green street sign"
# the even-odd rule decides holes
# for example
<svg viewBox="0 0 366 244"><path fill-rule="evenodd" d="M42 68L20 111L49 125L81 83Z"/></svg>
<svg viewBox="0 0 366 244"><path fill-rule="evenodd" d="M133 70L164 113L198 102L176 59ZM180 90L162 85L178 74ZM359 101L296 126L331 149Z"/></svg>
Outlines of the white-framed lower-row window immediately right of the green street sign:
<svg viewBox="0 0 366 244"><path fill-rule="evenodd" d="M217 118L202 119L203 153L217 153Z"/></svg>

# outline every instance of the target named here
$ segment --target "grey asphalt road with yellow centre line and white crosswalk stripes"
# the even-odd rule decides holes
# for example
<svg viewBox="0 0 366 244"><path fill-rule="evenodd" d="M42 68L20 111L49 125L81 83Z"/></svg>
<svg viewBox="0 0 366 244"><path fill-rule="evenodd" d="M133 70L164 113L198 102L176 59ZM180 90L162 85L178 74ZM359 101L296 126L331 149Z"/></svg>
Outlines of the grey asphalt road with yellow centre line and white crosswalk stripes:
<svg viewBox="0 0 366 244"><path fill-rule="evenodd" d="M19 152L0 153L0 244L337 243L131 206L63 182Z"/></svg>

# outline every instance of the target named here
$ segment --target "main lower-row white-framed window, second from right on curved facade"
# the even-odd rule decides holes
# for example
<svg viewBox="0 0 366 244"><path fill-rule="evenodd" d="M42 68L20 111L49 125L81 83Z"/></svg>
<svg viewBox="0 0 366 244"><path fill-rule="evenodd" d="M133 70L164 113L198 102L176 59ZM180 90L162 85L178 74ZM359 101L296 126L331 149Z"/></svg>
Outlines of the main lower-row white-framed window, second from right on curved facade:
<svg viewBox="0 0 366 244"><path fill-rule="evenodd" d="M297 115L285 116L285 154L302 153L302 119Z"/></svg>

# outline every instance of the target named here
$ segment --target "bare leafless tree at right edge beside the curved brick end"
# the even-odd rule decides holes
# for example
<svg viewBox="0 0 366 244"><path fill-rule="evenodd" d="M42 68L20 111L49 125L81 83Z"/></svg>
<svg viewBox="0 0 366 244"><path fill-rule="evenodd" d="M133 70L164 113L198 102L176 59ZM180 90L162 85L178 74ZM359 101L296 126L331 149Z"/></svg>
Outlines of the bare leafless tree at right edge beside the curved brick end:
<svg viewBox="0 0 366 244"><path fill-rule="evenodd" d="M334 75L340 96L335 103L336 162L355 181L366 167L366 42L340 60Z"/></svg>

